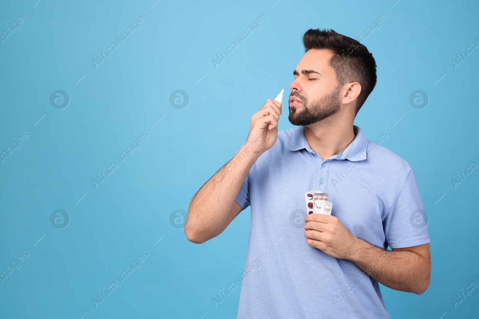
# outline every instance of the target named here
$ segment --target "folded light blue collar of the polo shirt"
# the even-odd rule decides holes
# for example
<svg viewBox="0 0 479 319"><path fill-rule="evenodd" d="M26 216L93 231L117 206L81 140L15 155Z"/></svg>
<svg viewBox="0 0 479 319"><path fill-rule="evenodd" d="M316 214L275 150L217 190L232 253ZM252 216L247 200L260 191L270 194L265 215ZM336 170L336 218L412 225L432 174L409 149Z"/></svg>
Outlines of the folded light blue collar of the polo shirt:
<svg viewBox="0 0 479 319"><path fill-rule="evenodd" d="M362 161L366 159L367 138L363 135L363 130L359 126L353 125L356 137L353 142L346 147L344 151L337 154L334 158L338 160L348 159L350 161ZM304 126L298 126L293 129L291 141L288 144L288 149L291 151L298 151L306 148L309 152L313 150L309 147L308 141L304 136Z"/></svg>

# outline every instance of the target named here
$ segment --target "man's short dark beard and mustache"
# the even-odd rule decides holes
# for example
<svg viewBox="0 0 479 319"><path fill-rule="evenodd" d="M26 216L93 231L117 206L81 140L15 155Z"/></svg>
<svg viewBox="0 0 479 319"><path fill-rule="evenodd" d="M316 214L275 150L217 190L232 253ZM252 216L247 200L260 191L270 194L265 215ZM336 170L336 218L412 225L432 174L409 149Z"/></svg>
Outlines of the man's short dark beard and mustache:
<svg viewBox="0 0 479 319"><path fill-rule="evenodd" d="M289 107L288 120L293 125L310 125L319 121L322 121L333 114L336 114L340 109L339 92L340 86L333 88L331 94L322 97L314 101L308 101L299 94L294 94L297 98L301 99L303 103L302 109L297 109L294 106Z"/></svg>

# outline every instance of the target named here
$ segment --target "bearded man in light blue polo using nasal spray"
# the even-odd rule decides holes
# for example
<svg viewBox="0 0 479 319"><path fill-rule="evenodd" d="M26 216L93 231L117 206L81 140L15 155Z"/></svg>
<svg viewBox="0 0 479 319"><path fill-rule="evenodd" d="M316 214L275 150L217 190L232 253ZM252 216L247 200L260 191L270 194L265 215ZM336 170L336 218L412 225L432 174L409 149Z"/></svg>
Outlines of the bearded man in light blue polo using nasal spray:
<svg viewBox="0 0 479 319"><path fill-rule="evenodd" d="M376 85L372 54L333 30L308 30L303 44L289 86L298 126L278 131L281 104L268 99L247 141L195 194L185 234L205 242L251 205L238 318L390 318L378 283L422 294L430 282L417 181L353 125ZM329 194L331 215L306 213L308 190Z"/></svg>

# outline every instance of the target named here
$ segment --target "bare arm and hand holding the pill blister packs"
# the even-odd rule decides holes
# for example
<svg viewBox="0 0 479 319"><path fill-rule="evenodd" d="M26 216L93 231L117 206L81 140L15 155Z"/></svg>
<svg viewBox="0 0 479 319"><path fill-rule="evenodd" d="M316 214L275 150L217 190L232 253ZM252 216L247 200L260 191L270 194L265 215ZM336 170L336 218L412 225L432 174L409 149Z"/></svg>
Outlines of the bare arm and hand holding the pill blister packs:
<svg viewBox="0 0 479 319"><path fill-rule="evenodd" d="M431 278L429 243L387 251L350 233L335 216L305 217L306 242L335 258L348 259L392 289L422 294Z"/></svg>

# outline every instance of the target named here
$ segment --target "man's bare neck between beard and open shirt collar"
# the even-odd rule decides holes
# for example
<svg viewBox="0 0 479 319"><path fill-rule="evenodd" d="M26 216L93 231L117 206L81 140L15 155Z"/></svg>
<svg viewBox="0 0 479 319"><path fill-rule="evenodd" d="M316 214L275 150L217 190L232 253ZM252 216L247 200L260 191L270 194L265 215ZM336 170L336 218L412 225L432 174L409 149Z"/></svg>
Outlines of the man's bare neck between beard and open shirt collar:
<svg viewBox="0 0 479 319"><path fill-rule="evenodd" d="M340 154L356 137L353 123L334 120L328 118L304 128L304 135L309 147L323 160Z"/></svg>

